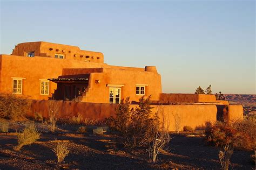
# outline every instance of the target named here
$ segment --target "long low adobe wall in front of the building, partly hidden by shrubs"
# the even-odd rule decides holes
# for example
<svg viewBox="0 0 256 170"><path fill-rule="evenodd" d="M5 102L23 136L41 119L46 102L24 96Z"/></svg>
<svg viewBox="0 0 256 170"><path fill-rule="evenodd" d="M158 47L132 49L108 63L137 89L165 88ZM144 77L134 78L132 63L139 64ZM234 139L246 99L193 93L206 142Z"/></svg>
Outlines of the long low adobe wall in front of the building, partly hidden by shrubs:
<svg viewBox="0 0 256 170"><path fill-rule="evenodd" d="M118 104L106 103L33 100L30 116L33 117L35 112L39 112L43 117L48 118L49 102L53 102L57 106L59 117L76 116L79 113L84 118L100 120L114 116L115 108L118 107ZM138 105L132 104L130 107L136 108ZM217 110L218 114L225 114L228 119L242 118L241 105L223 105L222 108L221 105L210 104L151 105L151 107L152 114L159 111L160 121L165 121L169 131L176 130L177 121L180 131L184 126L191 126L193 129L202 128L206 122L215 122L217 120Z"/></svg>

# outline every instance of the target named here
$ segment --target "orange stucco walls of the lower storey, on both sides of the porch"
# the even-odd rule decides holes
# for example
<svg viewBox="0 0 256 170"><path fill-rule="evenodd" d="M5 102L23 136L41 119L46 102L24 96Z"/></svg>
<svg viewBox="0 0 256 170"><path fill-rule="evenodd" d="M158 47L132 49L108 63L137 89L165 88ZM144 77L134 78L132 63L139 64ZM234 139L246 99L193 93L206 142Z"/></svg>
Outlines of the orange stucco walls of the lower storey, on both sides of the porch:
<svg viewBox="0 0 256 170"><path fill-rule="evenodd" d="M109 103L109 87L106 84L123 84L122 98L131 97L138 101L136 84L147 84L146 96L152 94L152 100L158 100L161 93L161 76L154 72L145 72L144 68L109 66L105 63L84 62L72 59L55 59L35 56L0 55L1 83L0 92L12 92L11 77L22 77L23 95L36 100L48 100L57 84L50 82L49 95L40 95L40 80L56 78L60 75L74 75L91 73L89 79L89 93L85 102ZM64 69L63 69L64 68ZM68 69L76 68L76 69ZM96 72L96 73L93 73ZM99 72L99 73L97 73ZM95 80L100 80L96 84Z"/></svg>

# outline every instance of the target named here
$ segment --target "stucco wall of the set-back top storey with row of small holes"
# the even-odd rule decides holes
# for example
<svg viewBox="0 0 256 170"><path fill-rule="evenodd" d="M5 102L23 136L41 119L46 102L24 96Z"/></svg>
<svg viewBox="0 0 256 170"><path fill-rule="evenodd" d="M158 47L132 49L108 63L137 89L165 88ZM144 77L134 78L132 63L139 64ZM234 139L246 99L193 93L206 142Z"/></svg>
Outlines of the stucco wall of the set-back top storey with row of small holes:
<svg viewBox="0 0 256 170"><path fill-rule="evenodd" d="M50 51L50 48L52 50ZM55 44L51 42L24 42L15 46L12 55L25 56L26 52L35 51L35 56L46 56L54 58L55 54L65 54L65 59L75 59L80 61L104 62L104 55L100 52L81 50L77 46ZM86 58L89 56L89 58Z"/></svg>

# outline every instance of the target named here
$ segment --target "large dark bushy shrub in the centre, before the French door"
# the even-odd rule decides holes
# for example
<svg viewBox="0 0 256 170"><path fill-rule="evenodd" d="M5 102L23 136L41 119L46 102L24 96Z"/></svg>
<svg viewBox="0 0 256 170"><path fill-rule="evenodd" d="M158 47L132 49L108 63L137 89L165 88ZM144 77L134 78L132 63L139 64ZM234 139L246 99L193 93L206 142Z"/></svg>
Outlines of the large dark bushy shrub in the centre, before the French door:
<svg viewBox="0 0 256 170"><path fill-rule="evenodd" d="M150 97L139 99L139 106L130 109L129 97L122 100L116 109L116 117L110 117L107 125L119 132L123 137L123 144L128 148L147 146L152 141L151 130L157 126L151 118Z"/></svg>

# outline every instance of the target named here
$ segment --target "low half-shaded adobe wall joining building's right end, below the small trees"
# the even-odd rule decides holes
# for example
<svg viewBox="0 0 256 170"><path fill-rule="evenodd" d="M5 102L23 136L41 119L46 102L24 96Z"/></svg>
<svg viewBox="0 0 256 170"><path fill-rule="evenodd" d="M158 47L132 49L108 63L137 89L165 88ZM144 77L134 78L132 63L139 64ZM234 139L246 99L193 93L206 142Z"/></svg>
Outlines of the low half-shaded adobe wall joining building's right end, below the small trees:
<svg viewBox="0 0 256 170"><path fill-rule="evenodd" d="M167 94L162 93L159 96L160 103L176 103L176 102L216 102L215 95L205 95L205 94Z"/></svg>

